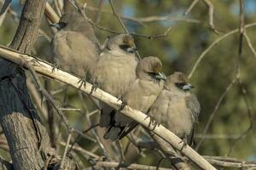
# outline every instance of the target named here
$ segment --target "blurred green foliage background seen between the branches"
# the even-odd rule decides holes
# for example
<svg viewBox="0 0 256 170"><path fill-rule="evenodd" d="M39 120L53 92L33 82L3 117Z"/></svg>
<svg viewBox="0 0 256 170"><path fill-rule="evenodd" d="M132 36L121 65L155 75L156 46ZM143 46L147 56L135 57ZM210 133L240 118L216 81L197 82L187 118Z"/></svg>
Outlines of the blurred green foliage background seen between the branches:
<svg viewBox="0 0 256 170"><path fill-rule="evenodd" d="M80 1L84 3L84 1ZM97 8L99 0L86 1L86 14L91 20L96 21L97 12L90 10L90 7ZM153 22L138 23L131 20L124 20L125 26L131 32L142 35L162 35L172 26L172 30L167 37L148 39L135 36L139 54L143 57L148 55L158 56L164 65L166 75L172 74L173 71L183 71L188 76L192 67L195 65L196 59L202 52L209 47L216 39L224 36L225 33L235 30L239 26L239 1L228 0L212 0L215 8L214 23L218 31L218 35L208 29L208 10L203 2L195 5L195 8L184 17L183 13L189 7L191 1L169 1L169 0L124 0L114 1L119 14L126 17L148 17L148 16L170 16L179 19L193 19L198 22L188 22L185 20L161 20ZM20 2L13 1L11 8L20 14L22 5ZM108 13L105 13L105 12ZM256 2L254 0L245 1L246 24L256 22ZM98 18L98 25L115 31L123 31L119 21L113 16L108 1L102 1L102 14ZM10 14L7 14L6 20L0 27L0 43L7 45L15 35L17 23ZM42 20L42 30L47 32L49 36L49 26L45 19ZM250 37L253 47L256 44L256 26L247 28L247 36ZM123 31L124 32L124 31ZM96 36L103 42L108 36L113 34L108 31L96 29ZM236 76L236 63L238 59L238 33L224 38L218 42L209 53L201 60L195 70L195 74L191 77L191 83L195 85L194 93L197 95L201 103L201 115L199 123L196 126L195 133L196 143L201 140L201 134L218 103L218 99L224 93L227 86ZM35 45L35 54L47 59L49 56L49 42L44 37L39 37ZM243 41L242 57L241 57L241 80L247 90L247 99L252 105L252 114L256 109L256 56L250 51L247 42ZM51 82L53 90L60 88L60 83ZM82 108L78 92L72 88L66 91L67 99L65 104L76 108ZM55 99L63 100L64 94L55 96ZM90 100L88 100L90 103ZM93 106L87 105L89 111L94 111ZM216 115L213 117L212 123L207 131L207 137L218 137L205 139L201 144L199 153L207 156L225 156L230 152L231 146L237 141L230 156L237 158L256 161L256 139L255 127L251 129L242 139L236 140L241 133L250 127L250 119L247 114L247 105L241 93L241 88L235 83L228 93L224 96L223 101L219 105ZM84 130L89 127L86 121L81 119L80 114L73 111L67 111L67 117L73 126ZM253 123L254 123L254 118ZM56 120L58 124L58 120ZM65 134L63 134L65 136ZM79 144L84 148L90 149L93 143L80 139ZM138 163L146 163L154 165L157 160L154 154L147 151L146 157L140 156Z"/></svg>

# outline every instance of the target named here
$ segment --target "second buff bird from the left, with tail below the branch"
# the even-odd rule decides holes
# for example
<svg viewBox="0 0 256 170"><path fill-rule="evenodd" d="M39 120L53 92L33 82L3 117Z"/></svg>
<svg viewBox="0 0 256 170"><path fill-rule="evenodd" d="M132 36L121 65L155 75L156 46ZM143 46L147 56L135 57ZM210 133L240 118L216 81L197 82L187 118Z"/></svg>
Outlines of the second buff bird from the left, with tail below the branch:
<svg viewBox="0 0 256 170"><path fill-rule="evenodd" d="M96 87L116 97L122 96L136 80L137 58L135 43L131 36L120 34L108 39L92 71ZM101 102L101 127L108 127L113 108Z"/></svg>

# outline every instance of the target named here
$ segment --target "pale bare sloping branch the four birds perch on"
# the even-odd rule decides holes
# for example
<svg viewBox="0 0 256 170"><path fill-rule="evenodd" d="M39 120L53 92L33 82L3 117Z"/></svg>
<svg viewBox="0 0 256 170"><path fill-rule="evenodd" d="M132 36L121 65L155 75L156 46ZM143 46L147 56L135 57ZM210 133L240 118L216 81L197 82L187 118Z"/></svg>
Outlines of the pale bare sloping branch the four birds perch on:
<svg viewBox="0 0 256 170"><path fill-rule="evenodd" d="M74 77L73 75L61 70L52 72L52 66L47 64L47 62L44 62L43 60L33 58L27 54L20 54L15 52L14 50L3 47L0 48L0 55L3 59L7 59L23 67L26 67L27 63L32 63L34 70L44 75L45 77L64 82L72 86L73 88L81 90L85 94L90 94L92 97L102 100L103 102L112 106L114 109L119 109L122 104L122 101L102 91L99 88L97 88L94 92L91 92L92 85L89 82L86 83L86 87L80 87L78 83L80 80L79 77ZM168 143L172 144L172 146L177 150L181 150L183 155L187 156L191 161L194 161L202 169L216 169L202 156L200 156L195 150L190 148L189 145L183 148L183 140L179 139L174 133L166 129L166 127L163 127L161 125L158 127L154 127L154 125L150 123L150 118L148 118L147 115L143 114L140 111L133 110L129 106L125 106L124 110L122 110L121 112L126 116L131 117L135 121L141 123L144 127L148 127L149 129L151 129L162 139L165 139Z"/></svg>

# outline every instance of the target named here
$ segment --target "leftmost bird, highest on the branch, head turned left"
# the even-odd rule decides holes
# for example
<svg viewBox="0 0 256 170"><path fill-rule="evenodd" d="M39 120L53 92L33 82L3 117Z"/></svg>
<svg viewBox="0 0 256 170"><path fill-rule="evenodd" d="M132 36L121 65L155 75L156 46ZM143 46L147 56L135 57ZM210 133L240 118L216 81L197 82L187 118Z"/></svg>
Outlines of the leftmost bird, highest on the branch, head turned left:
<svg viewBox="0 0 256 170"><path fill-rule="evenodd" d="M100 48L93 27L77 11L67 12L57 24L51 42L52 62L75 76L86 77L96 64Z"/></svg>

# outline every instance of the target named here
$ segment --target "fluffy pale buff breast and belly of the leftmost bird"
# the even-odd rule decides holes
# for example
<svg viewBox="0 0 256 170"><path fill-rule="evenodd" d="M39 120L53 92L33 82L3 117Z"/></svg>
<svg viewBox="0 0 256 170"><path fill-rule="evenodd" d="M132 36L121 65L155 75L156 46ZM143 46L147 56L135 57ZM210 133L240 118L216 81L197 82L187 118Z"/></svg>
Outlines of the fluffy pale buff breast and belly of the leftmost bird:
<svg viewBox="0 0 256 170"><path fill-rule="evenodd" d="M95 45L76 31L58 32L52 42L52 53L61 69L79 77L84 77L98 58Z"/></svg>

